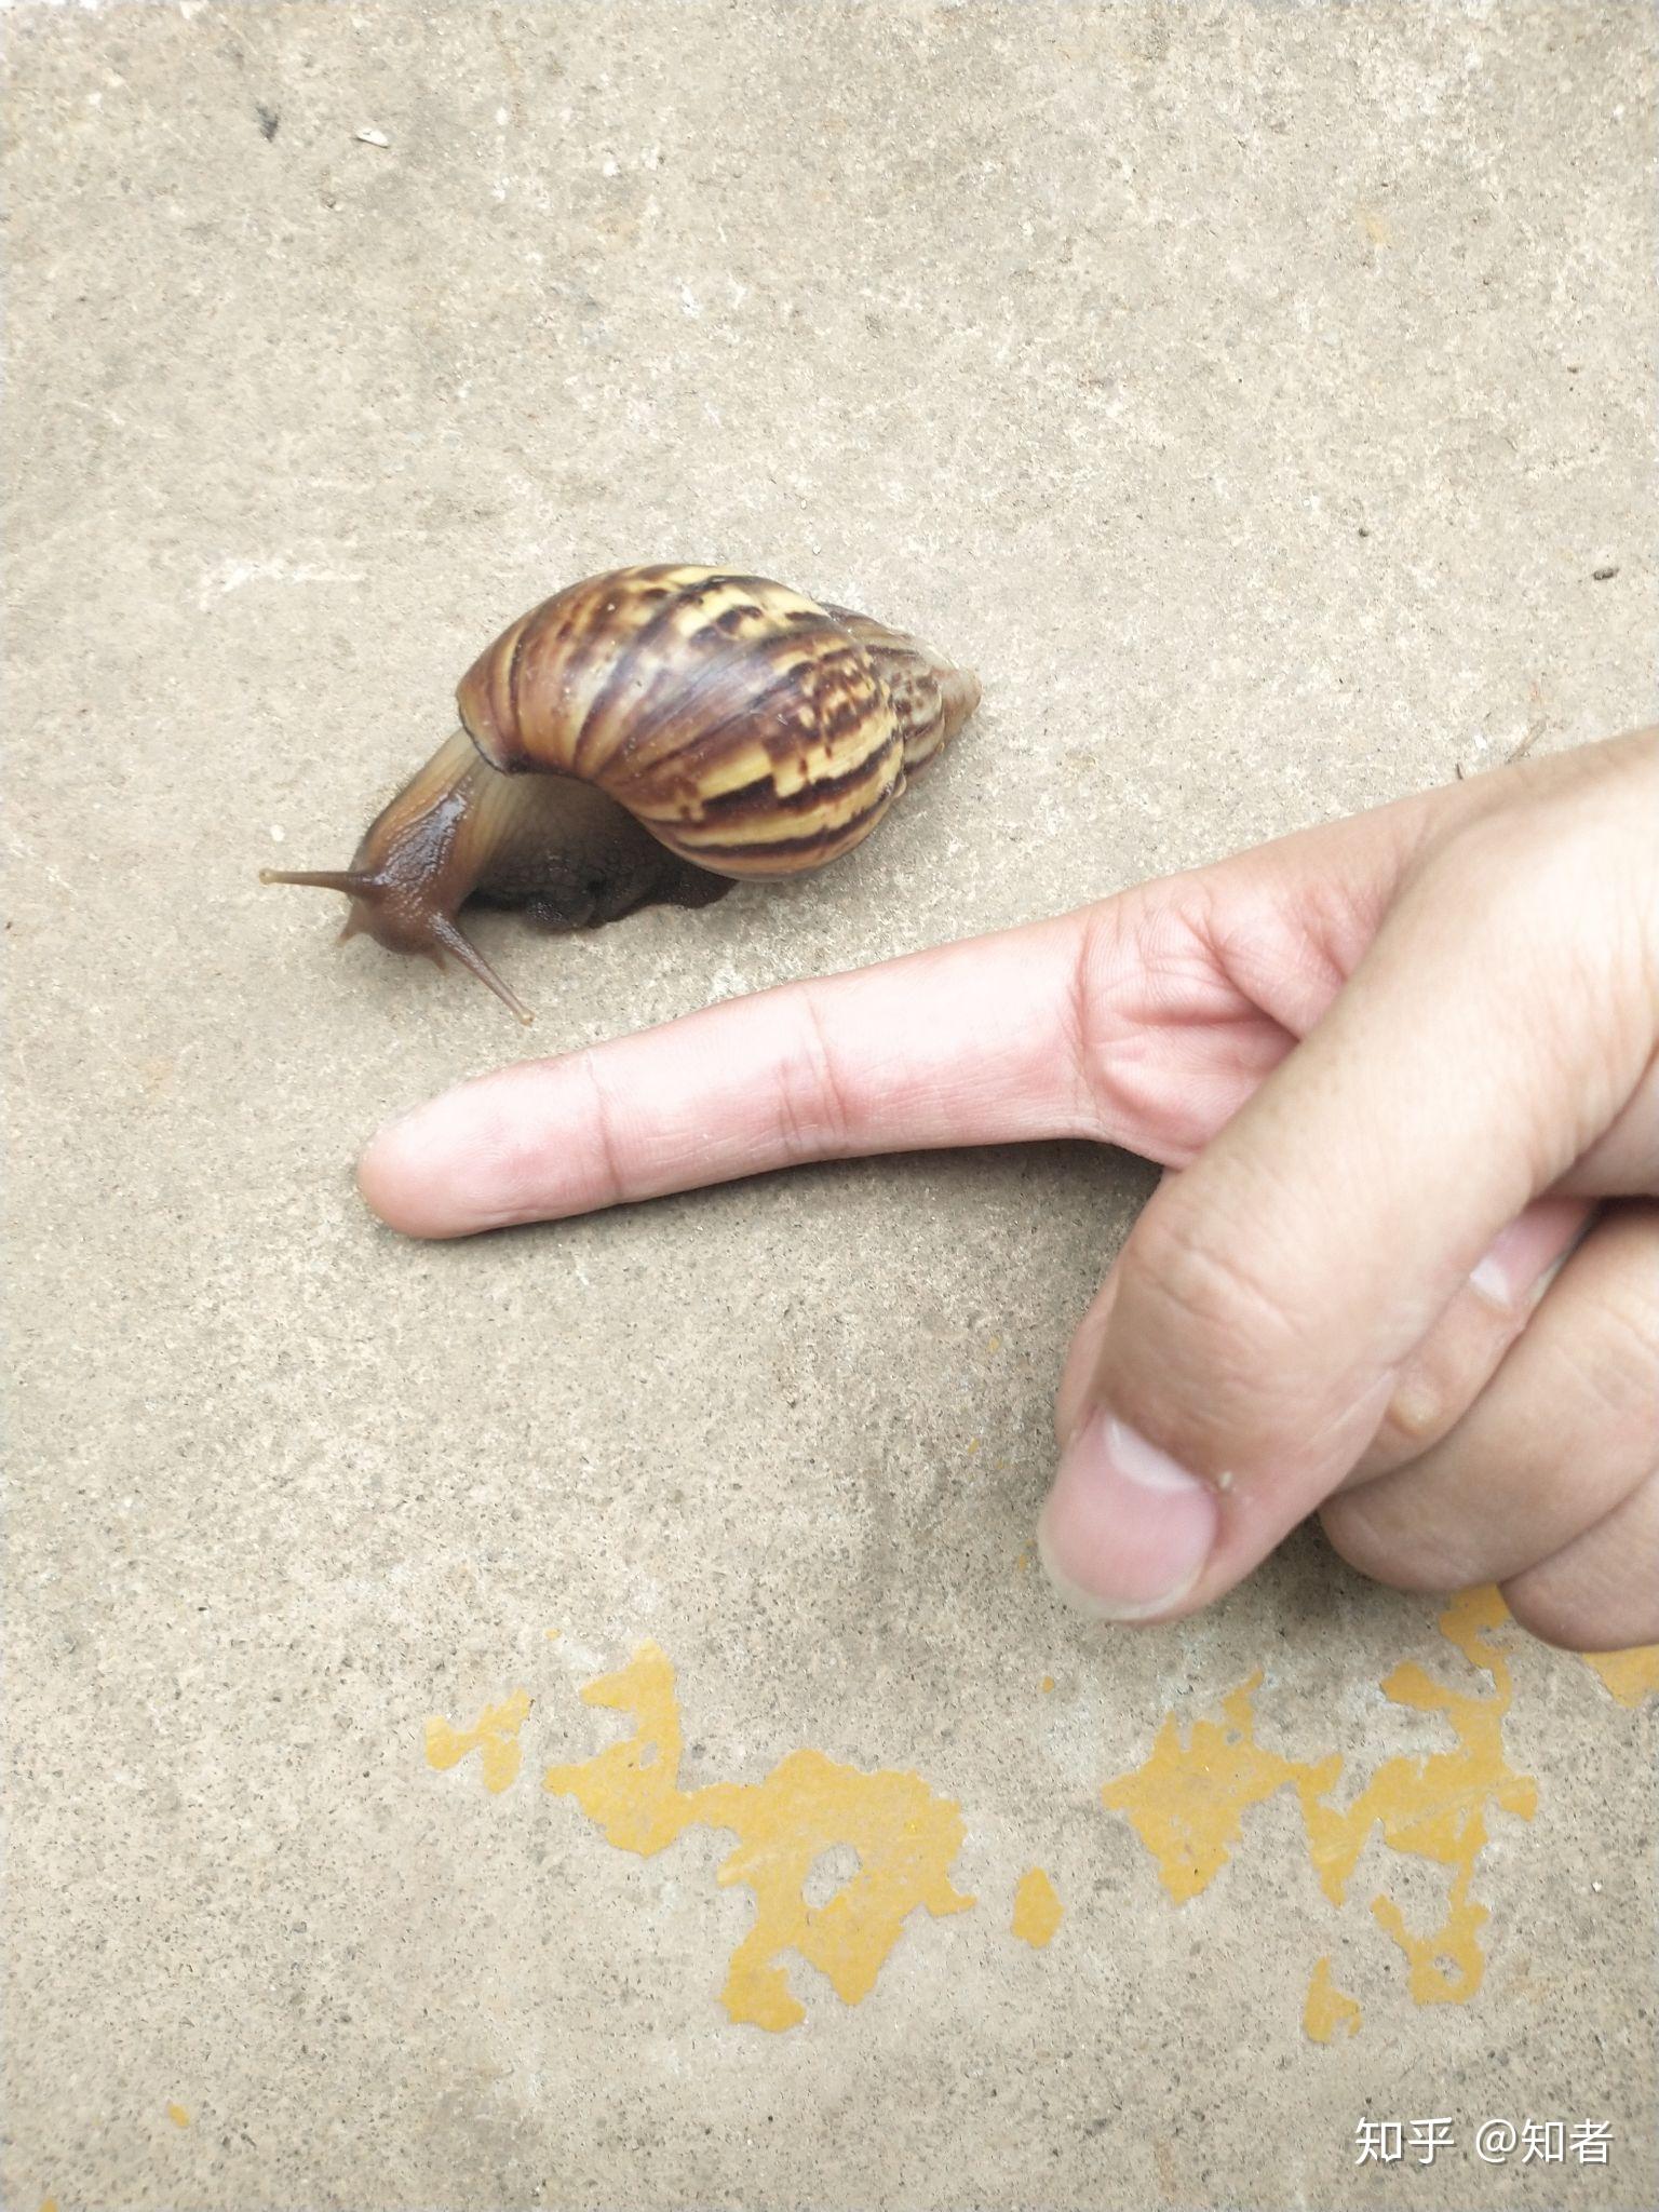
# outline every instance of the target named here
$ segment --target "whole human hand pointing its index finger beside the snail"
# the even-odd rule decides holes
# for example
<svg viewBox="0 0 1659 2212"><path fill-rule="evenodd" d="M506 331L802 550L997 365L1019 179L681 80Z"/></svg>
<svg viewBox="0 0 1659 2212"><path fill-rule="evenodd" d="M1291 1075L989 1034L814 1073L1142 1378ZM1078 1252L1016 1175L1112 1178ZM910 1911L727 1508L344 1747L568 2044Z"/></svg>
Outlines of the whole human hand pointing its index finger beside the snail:
<svg viewBox="0 0 1659 2212"><path fill-rule="evenodd" d="M358 1179L467 1237L1022 1137L1175 1170L1060 1385L1073 1601L1190 1613L1318 1511L1396 1588L1659 1639L1659 730L502 1068Z"/></svg>

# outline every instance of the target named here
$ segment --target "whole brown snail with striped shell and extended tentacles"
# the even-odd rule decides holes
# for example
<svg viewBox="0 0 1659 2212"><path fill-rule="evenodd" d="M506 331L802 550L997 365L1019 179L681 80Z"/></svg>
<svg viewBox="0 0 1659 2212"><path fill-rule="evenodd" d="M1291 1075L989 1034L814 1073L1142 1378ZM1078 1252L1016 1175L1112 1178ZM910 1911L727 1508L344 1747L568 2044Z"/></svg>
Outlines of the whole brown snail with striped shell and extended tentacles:
<svg viewBox="0 0 1659 2212"><path fill-rule="evenodd" d="M980 703L973 675L845 606L723 568L613 568L513 622L460 679L460 730L369 823L345 891L367 931L451 956L529 1011L462 933L476 898L582 929L863 843Z"/></svg>

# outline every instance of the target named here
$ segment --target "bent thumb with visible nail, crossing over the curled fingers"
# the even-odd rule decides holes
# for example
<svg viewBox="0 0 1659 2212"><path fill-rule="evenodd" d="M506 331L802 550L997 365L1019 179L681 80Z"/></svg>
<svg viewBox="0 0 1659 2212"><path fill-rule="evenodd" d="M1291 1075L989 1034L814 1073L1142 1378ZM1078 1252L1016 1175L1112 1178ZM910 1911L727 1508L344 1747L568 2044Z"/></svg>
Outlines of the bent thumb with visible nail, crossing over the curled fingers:
<svg viewBox="0 0 1659 2212"><path fill-rule="evenodd" d="M1062 1396L1037 1533L1086 1610L1186 1613L1272 1551L1500 1230L1632 1097L1650 803L1604 765L1453 832L1318 1026L1164 1181Z"/></svg>

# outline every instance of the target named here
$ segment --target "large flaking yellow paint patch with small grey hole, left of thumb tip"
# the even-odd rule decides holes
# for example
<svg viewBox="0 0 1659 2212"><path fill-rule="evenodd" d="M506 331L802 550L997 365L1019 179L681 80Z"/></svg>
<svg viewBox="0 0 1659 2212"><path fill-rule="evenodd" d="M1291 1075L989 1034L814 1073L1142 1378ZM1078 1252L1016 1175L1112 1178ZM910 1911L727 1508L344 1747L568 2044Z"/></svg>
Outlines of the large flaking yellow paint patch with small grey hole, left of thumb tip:
<svg viewBox="0 0 1659 2212"><path fill-rule="evenodd" d="M737 1849L717 1880L754 1893L754 1924L737 1947L721 2002L732 2020L783 2031L805 2020L783 1951L816 1966L845 2004L876 1986L916 1907L960 1913L973 1898L951 1887L962 1814L916 1774L865 1774L823 1752L790 1752L761 1783L679 1787L684 1734L675 1670L655 1644L582 1692L630 1714L635 1732L595 1759L549 1767L544 1787L571 1796L608 1843L650 1858L688 1827L728 1827ZM849 1845L858 1871L825 1905L805 1885L825 1851Z"/></svg>

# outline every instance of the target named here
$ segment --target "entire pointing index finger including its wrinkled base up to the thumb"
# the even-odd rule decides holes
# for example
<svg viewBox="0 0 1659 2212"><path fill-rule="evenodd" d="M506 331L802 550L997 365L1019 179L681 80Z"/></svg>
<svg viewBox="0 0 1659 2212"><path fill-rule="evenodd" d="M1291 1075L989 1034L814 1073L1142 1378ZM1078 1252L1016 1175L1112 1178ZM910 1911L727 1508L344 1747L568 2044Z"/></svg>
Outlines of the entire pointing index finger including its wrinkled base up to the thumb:
<svg viewBox="0 0 1659 2212"><path fill-rule="evenodd" d="M469 1237L860 1152L1093 1137L1186 1166L1325 1011L1431 823L1484 803L1429 792L500 1068L387 1124L358 1186L392 1228Z"/></svg>

